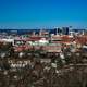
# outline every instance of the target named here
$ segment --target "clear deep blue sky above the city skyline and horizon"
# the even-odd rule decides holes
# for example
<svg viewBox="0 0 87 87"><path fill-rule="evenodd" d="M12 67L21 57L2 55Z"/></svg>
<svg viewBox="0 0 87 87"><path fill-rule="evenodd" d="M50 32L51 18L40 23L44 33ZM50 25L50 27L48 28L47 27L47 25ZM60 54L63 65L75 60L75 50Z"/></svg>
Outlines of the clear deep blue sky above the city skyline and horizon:
<svg viewBox="0 0 87 87"><path fill-rule="evenodd" d="M87 0L0 0L0 28L87 27Z"/></svg>

